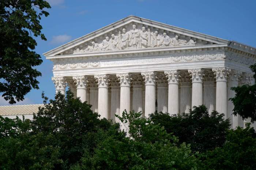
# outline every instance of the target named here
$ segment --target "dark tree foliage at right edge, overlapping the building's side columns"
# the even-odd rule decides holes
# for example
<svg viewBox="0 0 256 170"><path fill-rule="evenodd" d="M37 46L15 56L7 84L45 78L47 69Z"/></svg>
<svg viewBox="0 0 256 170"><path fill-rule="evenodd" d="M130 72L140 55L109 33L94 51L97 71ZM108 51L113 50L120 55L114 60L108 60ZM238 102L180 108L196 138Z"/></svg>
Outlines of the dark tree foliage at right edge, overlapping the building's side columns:
<svg viewBox="0 0 256 170"><path fill-rule="evenodd" d="M256 64L250 66L255 73L256 78ZM243 85L231 88L236 92L236 96L230 98L234 104L233 114L240 115L243 119L251 118L251 122L256 121L256 84Z"/></svg>

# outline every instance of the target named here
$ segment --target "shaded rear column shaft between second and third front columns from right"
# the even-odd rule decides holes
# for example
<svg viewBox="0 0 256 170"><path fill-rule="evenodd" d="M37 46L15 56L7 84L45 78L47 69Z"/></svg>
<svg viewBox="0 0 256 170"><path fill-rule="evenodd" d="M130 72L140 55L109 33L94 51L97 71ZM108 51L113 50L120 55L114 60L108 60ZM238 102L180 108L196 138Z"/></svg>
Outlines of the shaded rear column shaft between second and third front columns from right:
<svg viewBox="0 0 256 170"><path fill-rule="evenodd" d="M191 82L181 82L180 97L180 113L189 113L189 109L191 109Z"/></svg>

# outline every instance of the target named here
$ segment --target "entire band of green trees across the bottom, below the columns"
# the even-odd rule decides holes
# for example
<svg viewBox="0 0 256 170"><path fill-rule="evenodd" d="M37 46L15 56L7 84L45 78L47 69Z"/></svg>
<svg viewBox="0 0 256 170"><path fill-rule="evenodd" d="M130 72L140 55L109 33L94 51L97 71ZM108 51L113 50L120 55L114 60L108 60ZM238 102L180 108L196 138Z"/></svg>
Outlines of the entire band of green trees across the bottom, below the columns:
<svg viewBox="0 0 256 170"><path fill-rule="evenodd" d="M228 130L229 120L204 105L151 119L124 111L127 137L69 91L42 96L33 120L0 117L0 169L256 169L253 128Z"/></svg>

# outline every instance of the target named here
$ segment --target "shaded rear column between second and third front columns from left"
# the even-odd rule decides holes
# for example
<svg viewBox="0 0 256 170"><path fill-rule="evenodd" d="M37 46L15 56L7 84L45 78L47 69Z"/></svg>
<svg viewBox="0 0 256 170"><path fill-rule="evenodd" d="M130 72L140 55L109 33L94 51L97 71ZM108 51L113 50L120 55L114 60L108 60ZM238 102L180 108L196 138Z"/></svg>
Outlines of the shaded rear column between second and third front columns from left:
<svg viewBox="0 0 256 170"><path fill-rule="evenodd" d="M90 104L91 110L98 112L98 87L94 77L89 79L90 82Z"/></svg>

